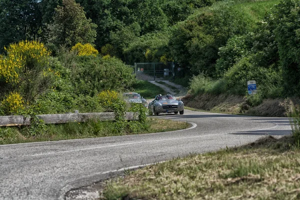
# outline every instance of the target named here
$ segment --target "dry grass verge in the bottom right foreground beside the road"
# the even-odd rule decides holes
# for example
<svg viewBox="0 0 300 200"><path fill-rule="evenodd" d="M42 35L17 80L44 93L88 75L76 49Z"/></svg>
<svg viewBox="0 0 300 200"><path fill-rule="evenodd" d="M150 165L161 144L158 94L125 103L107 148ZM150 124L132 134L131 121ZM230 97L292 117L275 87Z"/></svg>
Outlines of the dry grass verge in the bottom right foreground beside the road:
<svg viewBox="0 0 300 200"><path fill-rule="evenodd" d="M102 199L299 199L300 149L290 136L190 155L104 182Z"/></svg>

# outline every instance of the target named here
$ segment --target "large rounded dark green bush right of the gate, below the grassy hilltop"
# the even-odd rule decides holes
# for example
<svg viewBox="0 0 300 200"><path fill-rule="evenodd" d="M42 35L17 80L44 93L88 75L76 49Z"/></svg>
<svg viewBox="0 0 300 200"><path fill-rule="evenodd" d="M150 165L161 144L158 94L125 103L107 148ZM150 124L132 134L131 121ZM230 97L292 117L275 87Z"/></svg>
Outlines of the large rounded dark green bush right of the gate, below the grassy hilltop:
<svg viewBox="0 0 300 200"><path fill-rule="evenodd" d="M193 74L215 75L218 48L230 37L252 28L248 16L233 5L232 2L215 3L177 24L169 42L173 59L182 67L189 67Z"/></svg>

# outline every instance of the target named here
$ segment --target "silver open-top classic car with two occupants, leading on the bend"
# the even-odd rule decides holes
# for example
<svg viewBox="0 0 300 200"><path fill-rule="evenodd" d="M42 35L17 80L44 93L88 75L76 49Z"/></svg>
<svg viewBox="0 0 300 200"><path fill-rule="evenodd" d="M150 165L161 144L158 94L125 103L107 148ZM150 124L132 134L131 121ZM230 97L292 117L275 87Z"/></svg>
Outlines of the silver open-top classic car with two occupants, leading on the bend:
<svg viewBox="0 0 300 200"><path fill-rule="evenodd" d="M176 98L170 94L162 96L158 94L155 99L151 101L148 105L149 113L154 113L158 115L159 113L172 113L183 114L184 103L181 100L176 100Z"/></svg>

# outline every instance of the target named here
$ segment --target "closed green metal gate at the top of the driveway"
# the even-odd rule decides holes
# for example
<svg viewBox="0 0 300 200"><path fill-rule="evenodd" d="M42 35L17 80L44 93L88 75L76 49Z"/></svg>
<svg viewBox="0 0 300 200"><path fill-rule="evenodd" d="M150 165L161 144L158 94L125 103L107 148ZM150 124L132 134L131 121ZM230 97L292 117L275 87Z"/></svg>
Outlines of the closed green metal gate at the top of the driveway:
<svg viewBox="0 0 300 200"><path fill-rule="evenodd" d="M168 80L174 75L174 63L138 62L134 63L134 72L138 80Z"/></svg>

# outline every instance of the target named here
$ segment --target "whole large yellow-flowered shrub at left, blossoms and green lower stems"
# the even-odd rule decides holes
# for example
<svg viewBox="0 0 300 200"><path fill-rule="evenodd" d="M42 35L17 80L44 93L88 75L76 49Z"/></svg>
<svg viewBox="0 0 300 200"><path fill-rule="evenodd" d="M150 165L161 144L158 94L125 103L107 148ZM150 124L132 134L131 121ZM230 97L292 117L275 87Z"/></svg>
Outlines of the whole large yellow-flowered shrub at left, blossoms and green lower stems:
<svg viewBox="0 0 300 200"><path fill-rule="evenodd" d="M25 102L32 102L54 81L45 75L49 68L50 51L38 41L22 40L4 48L0 56L0 81L3 88L17 90Z"/></svg>

